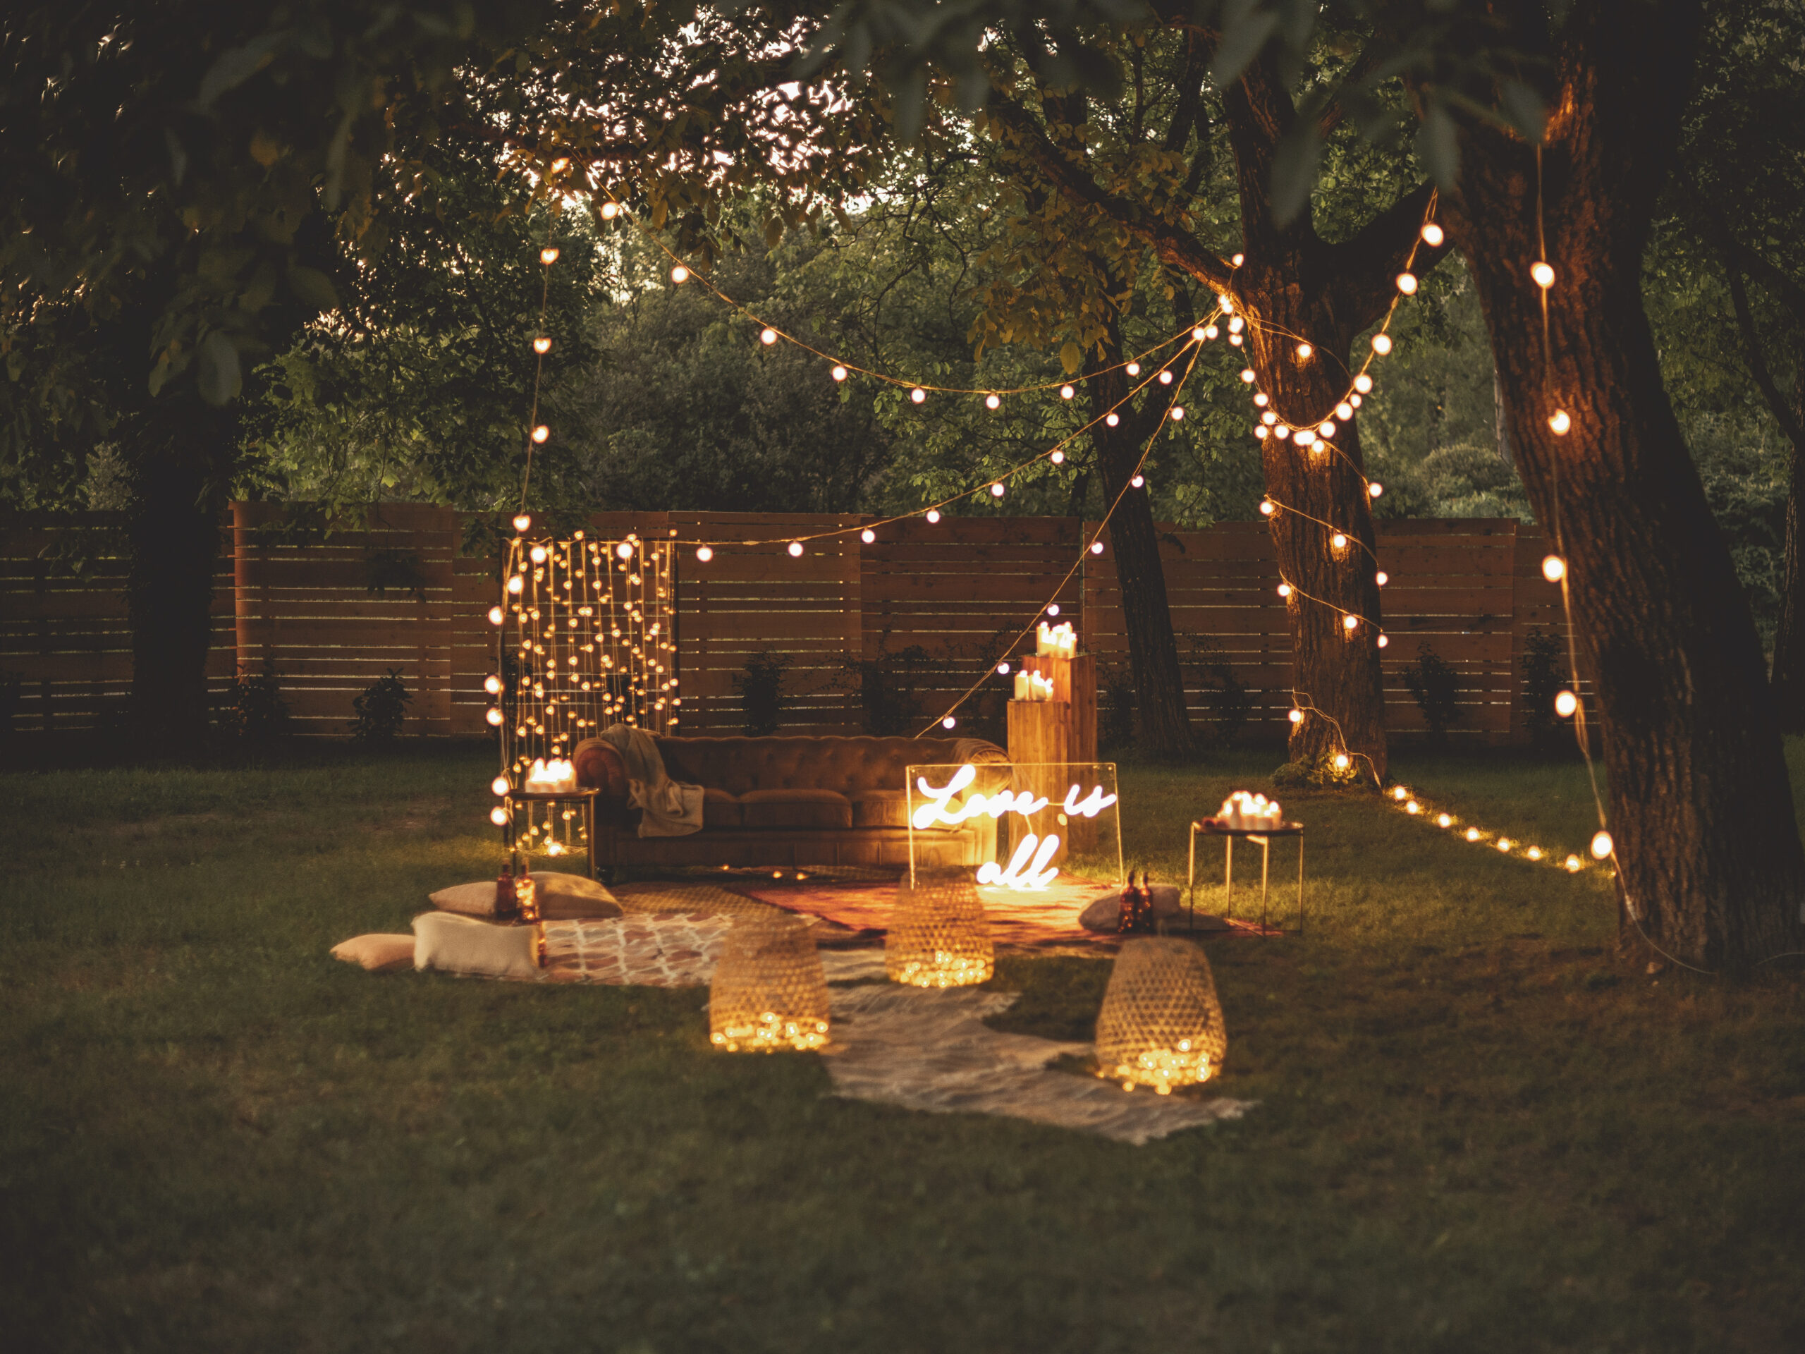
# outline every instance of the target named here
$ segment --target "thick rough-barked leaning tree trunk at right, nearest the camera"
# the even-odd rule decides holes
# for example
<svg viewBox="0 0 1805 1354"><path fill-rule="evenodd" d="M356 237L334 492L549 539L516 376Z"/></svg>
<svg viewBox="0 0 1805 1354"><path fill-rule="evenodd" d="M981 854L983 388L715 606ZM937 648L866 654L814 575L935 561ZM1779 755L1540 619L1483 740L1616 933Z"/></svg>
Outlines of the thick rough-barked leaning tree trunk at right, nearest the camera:
<svg viewBox="0 0 1805 1354"><path fill-rule="evenodd" d="M1541 152L1467 128L1448 224L1467 255L1536 516L1567 558L1605 729L1621 935L1747 971L1800 948L1805 852L1747 598L1680 437L1641 260L1697 7L1576 11ZM1565 410L1572 431L1549 417Z"/></svg>

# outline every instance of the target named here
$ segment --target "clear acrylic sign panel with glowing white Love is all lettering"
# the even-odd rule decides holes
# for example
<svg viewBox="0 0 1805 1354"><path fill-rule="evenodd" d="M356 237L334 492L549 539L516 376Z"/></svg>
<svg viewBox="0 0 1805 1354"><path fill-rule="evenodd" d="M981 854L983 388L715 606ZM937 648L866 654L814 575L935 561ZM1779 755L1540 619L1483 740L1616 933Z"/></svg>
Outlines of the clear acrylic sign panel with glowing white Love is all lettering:
<svg viewBox="0 0 1805 1354"><path fill-rule="evenodd" d="M931 764L904 774L910 879L917 841L964 829L978 834L980 885L1036 894L1067 876L1123 881L1114 762Z"/></svg>

